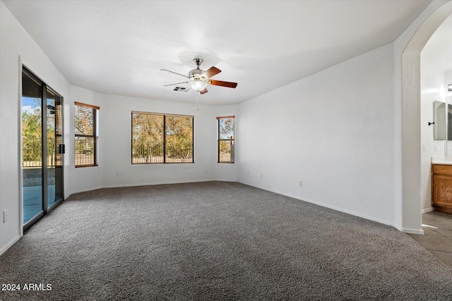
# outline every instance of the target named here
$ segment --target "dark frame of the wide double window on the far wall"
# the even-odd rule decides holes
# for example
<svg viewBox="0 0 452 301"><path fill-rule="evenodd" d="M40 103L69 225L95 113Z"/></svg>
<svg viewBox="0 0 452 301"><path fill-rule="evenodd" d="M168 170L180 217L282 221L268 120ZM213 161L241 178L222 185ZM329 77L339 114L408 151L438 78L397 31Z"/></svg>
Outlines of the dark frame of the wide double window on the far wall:
<svg viewBox="0 0 452 301"><path fill-rule="evenodd" d="M162 116L163 117L163 127L162 127L162 162L133 162L133 114L144 114L150 116ZM191 118L191 161L177 161L171 162L167 161L167 117L186 117ZM155 112L145 112L145 111L131 111L131 164L132 165L142 165L142 164L194 164L195 163L195 117L192 115L174 114L174 113L155 113Z"/></svg>

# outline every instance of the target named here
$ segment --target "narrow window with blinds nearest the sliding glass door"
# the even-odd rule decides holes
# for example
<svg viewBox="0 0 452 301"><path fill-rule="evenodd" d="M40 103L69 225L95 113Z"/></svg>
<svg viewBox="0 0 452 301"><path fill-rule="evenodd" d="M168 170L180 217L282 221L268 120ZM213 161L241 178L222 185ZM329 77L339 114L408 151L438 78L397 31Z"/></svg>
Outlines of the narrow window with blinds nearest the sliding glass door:
<svg viewBox="0 0 452 301"><path fill-rule="evenodd" d="M75 102L76 167L97 166L99 140L99 106Z"/></svg>

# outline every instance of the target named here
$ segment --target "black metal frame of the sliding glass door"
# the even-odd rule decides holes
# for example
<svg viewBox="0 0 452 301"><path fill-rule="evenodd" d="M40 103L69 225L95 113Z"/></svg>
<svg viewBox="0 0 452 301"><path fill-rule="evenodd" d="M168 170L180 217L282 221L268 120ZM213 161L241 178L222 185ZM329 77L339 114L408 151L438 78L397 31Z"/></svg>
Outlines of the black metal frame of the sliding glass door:
<svg viewBox="0 0 452 301"><path fill-rule="evenodd" d="M45 216L46 214L49 213L49 211L51 211L52 209L54 209L54 207L56 207L58 204L60 204L61 202L64 201L64 141L63 141L63 137L64 137L64 123L63 123L63 116L64 116L64 97L61 96L61 94L59 94L58 92L56 92L54 89L52 89L51 87L47 86L47 84L41 80L39 77L37 77L35 75L35 73L32 73L32 71L30 71L29 68L27 68L25 65L22 65L22 68L20 69L20 82L21 82L21 87L22 87L22 74L25 73L27 76L29 76L30 78L32 78L32 80L35 80L36 82L39 82L41 85L41 89L42 89L42 100L41 100L41 148L42 148L42 152L41 152L41 156L42 156L42 211L40 211L39 214L37 214L36 216L34 216L32 219L30 219L29 221L27 221L26 223L24 223L23 221L23 215L24 215L24 204L23 204L23 180L21 182L21 221L22 221L22 226L23 226L23 233L25 233L26 231L28 231L33 225L35 225L35 223L37 221L39 221L40 219L42 219L43 216ZM61 145L63 146L61 147L55 147L55 152L59 152L59 154L61 155L61 198L58 199L56 202L54 202L54 204L52 204L51 207L49 207L49 191L48 191L48 149L47 149L47 90L49 90L52 94L55 95L55 97L59 97L60 102L61 102ZM20 91L20 112L22 112L22 100L23 99L23 90L21 88ZM21 115L22 113L20 113ZM22 128L22 119L20 118L20 128ZM20 132L20 135L22 136L22 131ZM57 135L55 133L55 135ZM55 137L56 139L56 137ZM21 153L23 152L23 137L20 138L20 147L21 147ZM20 174L21 174L21 178L23 178L23 157L20 158Z"/></svg>

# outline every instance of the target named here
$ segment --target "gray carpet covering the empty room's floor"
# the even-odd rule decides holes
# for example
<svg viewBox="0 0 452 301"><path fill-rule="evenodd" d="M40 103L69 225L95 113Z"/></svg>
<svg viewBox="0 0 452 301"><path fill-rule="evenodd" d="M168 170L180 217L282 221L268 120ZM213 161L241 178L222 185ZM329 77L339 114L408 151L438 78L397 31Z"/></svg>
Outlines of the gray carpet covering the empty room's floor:
<svg viewBox="0 0 452 301"><path fill-rule="evenodd" d="M0 257L1 300L452 300L405 233L239 183L71 196Z"/></svg>

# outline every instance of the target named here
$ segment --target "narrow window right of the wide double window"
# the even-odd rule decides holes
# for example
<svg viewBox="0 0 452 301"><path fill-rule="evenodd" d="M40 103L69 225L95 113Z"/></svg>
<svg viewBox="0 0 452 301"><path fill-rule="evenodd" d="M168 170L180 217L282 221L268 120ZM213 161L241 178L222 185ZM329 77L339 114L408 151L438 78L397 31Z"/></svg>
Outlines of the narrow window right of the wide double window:
<svg viewBox="0 0 452 301"><path fill-rule="evenodd" d="M218 163L234 163L234 116L217 117Z"/></svg>

